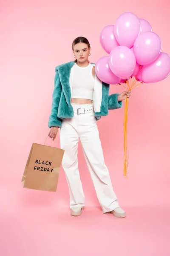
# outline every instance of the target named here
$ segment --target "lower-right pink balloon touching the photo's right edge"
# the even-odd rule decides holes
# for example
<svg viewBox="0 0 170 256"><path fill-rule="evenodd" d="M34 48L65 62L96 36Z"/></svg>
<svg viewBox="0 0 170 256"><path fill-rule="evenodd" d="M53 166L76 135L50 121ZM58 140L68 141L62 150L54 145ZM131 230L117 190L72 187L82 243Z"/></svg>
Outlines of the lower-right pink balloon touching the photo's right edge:
<svg viewBox="0 0 170 256"><path fill-rule="evenodd" d="M170 56L161 52L158 58L142 68L144 83L156 83L164 80L170 74Z"/></svg>

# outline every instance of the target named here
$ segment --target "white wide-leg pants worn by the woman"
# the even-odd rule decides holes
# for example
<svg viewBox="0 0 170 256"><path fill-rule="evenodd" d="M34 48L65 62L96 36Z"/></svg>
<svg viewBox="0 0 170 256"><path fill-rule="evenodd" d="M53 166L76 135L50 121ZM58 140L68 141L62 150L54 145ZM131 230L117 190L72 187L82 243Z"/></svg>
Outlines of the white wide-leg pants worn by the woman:
<svg viewBox="0 0 170 256"><path fill-rule="evenodd" d="M72 106L74 117L63 120L62 128L60 128L61 148L65 150L62 167L69 187L70 208L85 206L85 195L79 176L77 158L80 140L102 211L110 212L119 207L119 204L113 192L108 168L105 165L94 112L77 115L77 108L91 107L92 105L72 104Z"/></svg>

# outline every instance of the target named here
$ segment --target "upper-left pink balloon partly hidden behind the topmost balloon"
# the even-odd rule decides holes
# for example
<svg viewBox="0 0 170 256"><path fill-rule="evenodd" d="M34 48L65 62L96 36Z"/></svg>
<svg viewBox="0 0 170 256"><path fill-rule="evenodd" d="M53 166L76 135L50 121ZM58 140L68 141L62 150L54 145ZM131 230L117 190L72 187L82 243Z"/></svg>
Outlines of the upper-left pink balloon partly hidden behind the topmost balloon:
<svg viewBox="0 0 170 256"><path fill-rule="evenodd" d="M119 43L116 41L114 35L114 25L108 25L100 33L100 44L102 48L108 54L116 47Z"/></svg>

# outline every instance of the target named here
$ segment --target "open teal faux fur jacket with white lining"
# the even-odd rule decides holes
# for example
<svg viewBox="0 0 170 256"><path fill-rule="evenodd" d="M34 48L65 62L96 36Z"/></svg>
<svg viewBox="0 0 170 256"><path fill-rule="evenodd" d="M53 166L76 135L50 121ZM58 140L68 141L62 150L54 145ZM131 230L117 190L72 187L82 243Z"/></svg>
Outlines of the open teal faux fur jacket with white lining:
<svg viewBox="0 0 170 256"><path fill-rule="evenodd" d="M74 116L73 107L71 105L71 68L74 64L74 61L70 61L55 68L53 101L51 115L48 121L49 128L52 126L61 127L63 119L72 118ZM94 63L91 64L95 66ZM108 95L109 86L109 84L102 82L95 73L93 105L96 120L99 120L101 116L107 116L108 110L122 107L122 102L118 102L117 100L118 93Z"/></svg>

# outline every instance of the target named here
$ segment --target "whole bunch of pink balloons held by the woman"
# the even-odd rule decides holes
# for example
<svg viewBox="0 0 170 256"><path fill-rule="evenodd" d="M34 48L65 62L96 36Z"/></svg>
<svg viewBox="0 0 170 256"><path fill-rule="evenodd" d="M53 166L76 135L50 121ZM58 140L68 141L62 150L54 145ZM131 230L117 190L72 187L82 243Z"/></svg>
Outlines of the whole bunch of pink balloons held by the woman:
<svg viewBox="0 0 170 256"><path fill-rule="evenodd" d="M96 75L105 83L119 84L132 76L155 83L170 74L170 56L161 52L160 37L147 20L131 12L102 29L100 44L109 56L97 61Z"/></svg>

